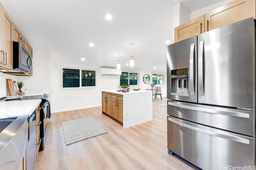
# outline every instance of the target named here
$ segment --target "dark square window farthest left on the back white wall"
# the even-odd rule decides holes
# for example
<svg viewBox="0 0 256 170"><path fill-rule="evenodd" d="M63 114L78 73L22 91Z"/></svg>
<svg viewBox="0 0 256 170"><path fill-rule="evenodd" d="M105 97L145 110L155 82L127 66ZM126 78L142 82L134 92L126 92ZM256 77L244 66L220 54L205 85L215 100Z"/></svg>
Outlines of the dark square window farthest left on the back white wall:
<svg viewBox="0 0 256 170"><path fill-rule="evenodd" d="M80 70L63 68L62 87L79 87Z"/></svg>

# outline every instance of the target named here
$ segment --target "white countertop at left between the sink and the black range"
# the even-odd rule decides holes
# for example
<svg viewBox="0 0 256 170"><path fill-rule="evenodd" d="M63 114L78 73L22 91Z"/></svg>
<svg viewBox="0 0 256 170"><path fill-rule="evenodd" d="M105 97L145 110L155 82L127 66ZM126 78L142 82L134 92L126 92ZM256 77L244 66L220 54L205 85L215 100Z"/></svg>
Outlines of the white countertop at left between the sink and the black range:
<svg viewBox="0 0 256 170"><path fill-rule="evenodd" d="M42 99L0 102L0 119L31 115Z"/></svg>

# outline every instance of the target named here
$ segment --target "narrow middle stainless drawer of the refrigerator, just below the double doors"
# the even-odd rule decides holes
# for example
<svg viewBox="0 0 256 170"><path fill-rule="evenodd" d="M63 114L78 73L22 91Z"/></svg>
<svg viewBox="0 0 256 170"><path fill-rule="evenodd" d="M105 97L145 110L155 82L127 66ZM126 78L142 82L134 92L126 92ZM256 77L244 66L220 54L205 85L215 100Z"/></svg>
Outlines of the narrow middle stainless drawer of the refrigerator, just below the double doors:
<svg viewBox="0 0 256 170"><path fill-rule="evenodd" d="M180 119L254 136L254 112L168 100L168 115Z"/></svg>

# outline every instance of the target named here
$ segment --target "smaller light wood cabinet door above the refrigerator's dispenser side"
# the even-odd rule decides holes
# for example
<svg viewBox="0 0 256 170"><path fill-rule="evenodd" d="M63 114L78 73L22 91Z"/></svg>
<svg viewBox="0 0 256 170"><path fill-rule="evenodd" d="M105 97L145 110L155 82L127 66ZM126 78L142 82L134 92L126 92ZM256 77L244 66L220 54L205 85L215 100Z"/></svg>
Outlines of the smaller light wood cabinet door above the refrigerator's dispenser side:
<svg viewBox="0 0 256 170"><path fill-rule="evenodd" d="M204 32L204 15L174 28L174 42L181 41Z"/></svg>

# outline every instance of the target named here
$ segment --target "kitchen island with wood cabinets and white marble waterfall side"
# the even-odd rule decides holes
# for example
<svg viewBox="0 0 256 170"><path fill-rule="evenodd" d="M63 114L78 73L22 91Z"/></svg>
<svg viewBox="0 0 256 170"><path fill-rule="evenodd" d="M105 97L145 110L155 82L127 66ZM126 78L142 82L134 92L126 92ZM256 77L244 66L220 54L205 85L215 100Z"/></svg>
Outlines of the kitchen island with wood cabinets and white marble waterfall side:
<svg viewBox="0 0 256 170"><path fill-rule="evenodd" d="M152 120L152 93L146 90L102 90L102 113L131 127Z"/></svg>

